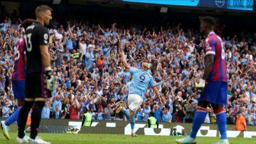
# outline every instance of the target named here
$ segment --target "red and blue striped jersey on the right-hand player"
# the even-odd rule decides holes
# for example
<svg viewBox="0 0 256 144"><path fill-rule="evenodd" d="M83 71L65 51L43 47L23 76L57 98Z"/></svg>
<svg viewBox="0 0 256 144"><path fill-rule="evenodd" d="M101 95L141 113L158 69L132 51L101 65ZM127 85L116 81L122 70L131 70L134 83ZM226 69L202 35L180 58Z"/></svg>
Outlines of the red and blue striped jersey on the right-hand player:
<svg viewBox="0 0 256 144"><path fill-rule="evenodd" d="M213 54L214 63L208 81L227 82L227 67L225 60L225 46L220 36L213 31L205 39L205 55Z"/></svg>

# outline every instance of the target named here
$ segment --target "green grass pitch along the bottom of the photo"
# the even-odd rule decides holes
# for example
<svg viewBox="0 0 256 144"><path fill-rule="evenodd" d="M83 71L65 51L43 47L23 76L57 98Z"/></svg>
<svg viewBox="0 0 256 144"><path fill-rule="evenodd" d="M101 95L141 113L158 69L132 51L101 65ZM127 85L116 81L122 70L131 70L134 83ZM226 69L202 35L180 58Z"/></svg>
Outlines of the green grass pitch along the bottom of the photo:
<svg viewBox="0 0 256 144"><path fill-rule="evenodd" d="M179 136L143 136L132 138L122 134L49 134L40 133L40 136L52 144L174 144ZM11 140L7 141L3 134L0 135L0 143L16 143L17 133L11 132ZM197 144L213 144L219 138L204 138L197 139ZM230 138L230 144L256 144L256 138Z"/></svg>

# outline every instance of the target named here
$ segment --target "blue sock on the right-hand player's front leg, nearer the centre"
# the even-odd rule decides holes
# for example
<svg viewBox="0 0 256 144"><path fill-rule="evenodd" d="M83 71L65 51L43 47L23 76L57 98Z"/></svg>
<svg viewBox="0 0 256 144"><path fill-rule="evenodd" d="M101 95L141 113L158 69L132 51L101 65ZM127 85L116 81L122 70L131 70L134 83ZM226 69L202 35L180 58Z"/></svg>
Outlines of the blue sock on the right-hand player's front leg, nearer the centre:
<svg viewBox="0 0 256 144"><path fill-rule="evenodd" d="M204 123L206 116L206 109L204 108L197 108L196 115L193 120L193 126L190 132L191 138L196 138L196 134L200 129L201 125Z"/></svg>

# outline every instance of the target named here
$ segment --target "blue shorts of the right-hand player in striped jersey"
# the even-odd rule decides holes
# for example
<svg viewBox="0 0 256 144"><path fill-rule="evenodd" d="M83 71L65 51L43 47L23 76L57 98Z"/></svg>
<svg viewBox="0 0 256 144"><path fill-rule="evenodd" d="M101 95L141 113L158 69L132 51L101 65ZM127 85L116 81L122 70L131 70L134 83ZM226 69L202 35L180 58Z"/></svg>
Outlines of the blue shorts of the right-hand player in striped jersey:
<svg viewBox="0 0 256 144"><path fill-rule="evenodd" d="M211 104L227 104L227 83L224 81L208 81L198 100L205 100Z"/></svg>

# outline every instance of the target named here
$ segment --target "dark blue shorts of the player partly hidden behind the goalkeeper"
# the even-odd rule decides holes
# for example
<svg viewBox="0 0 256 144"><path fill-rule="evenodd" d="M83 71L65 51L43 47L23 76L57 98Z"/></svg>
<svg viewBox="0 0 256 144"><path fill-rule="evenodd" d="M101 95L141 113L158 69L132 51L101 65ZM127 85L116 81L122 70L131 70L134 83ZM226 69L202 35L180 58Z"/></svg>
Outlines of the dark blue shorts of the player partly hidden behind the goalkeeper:
<svg viewBox="0 0 256 144"><path fill-rule="evenodd" d="M12 80L12 90L15 99L25 99L25 81Z"/></svg>

